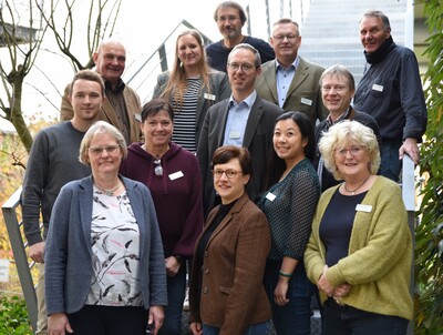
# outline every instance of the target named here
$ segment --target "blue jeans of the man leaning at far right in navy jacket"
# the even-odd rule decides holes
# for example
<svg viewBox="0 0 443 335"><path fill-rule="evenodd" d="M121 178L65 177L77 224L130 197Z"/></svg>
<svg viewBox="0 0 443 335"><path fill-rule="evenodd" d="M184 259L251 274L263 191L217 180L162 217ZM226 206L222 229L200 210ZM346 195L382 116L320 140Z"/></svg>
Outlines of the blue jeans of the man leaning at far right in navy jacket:
<svg viewBox="0 0 443 335"><path fill-rule="evenodd" d="M394 182L400 180L402 161L399 160L399 149L402 144L401 140L383 140L380 149L381 164L379 174Z"/></svg>

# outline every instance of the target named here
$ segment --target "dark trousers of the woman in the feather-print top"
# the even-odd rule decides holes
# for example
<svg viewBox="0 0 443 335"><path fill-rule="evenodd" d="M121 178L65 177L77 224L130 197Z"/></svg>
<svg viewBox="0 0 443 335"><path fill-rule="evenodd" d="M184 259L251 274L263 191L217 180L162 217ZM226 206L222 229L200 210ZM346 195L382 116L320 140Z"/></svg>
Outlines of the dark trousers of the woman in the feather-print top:
<svg viewBox="0 0 443 335"><path fill-rule="evenodd" d="M143 307L84 305L68 318L75 335L145 335L147 314Z"/></svg>

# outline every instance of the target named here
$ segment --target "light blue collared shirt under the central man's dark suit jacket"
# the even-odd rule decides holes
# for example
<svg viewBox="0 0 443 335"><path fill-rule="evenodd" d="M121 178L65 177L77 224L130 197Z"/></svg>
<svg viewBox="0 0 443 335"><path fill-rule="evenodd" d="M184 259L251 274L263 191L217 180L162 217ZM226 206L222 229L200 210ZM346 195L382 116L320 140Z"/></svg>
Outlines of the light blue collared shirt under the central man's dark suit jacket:
<svg viewBox="0 0 443 335"><path fill-rule="evenodd" d="M233 95L229 98L229 112L225 126L225 139L223 145L243 146L245 138L246 124L248 122L249 112L256 101L257 92L254 92L239 103L235 102Z"/></svg>

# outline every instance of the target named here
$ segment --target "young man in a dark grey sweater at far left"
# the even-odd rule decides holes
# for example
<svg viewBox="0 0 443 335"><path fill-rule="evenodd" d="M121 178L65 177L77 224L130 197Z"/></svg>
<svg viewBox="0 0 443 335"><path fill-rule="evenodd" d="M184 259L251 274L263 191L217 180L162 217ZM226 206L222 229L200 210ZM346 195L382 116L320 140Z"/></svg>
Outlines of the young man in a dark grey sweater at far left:
<svg viewBox="0 0 443 335"><path fill-rule="evenodd" d="M43 254L52 206L65 183L91 174L91 169L79 162L79 149L84 133L99 120L104 100L104 82L95 71L83 70L75 74L68 93L74 115L71 121L45 128L37 134L29 154L21 194L29 257L39 264L35 334L48 334ZM39 224L40 213L43 237Z"/></svg>

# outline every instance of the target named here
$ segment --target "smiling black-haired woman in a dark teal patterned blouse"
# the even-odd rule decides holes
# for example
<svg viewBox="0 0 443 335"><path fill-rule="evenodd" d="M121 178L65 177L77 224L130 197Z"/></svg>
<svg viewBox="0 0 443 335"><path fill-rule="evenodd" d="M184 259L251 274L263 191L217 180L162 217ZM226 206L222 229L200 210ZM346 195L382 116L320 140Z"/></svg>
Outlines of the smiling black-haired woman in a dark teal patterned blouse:
<svg viewBox="0 0 443 335"><path fill-rule="evenodd" d="M300 112L278 116L272 143L275 156L269 171L277 172L277 180L269 181L272 186L258 201L272 238L265 286L277 334L310 334L315 287L305 272L303 253L320 185L311 164L316 143L308 116Z"/></svg>

